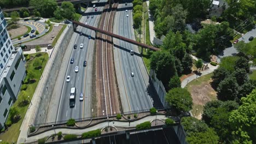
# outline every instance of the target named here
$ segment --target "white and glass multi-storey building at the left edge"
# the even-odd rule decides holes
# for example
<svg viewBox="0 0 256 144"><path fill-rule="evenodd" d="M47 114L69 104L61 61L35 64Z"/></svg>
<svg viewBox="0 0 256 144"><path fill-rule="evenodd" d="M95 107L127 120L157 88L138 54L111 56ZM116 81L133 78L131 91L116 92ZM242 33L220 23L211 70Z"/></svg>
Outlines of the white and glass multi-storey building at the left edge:
<svg viewBox="0 0 256 144"><path fill-rule="evenodd" d="M6 27L0 8L0 128L4 127L10 106L17 100L26 73L22 50L14 48Z"/></svg>

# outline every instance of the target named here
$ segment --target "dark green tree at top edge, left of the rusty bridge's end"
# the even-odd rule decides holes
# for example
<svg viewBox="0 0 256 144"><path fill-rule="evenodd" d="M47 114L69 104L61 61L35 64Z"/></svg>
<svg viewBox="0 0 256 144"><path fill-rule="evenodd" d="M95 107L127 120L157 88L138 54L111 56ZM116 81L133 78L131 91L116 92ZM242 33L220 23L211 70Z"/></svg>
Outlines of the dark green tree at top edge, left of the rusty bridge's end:
<svg viewBox="0 0 256 144"><path fill-rule="evenodd" d="M51 17L57 9L57 2L55 0L31 0L30 6L35 7L43 17Z"/></svg>

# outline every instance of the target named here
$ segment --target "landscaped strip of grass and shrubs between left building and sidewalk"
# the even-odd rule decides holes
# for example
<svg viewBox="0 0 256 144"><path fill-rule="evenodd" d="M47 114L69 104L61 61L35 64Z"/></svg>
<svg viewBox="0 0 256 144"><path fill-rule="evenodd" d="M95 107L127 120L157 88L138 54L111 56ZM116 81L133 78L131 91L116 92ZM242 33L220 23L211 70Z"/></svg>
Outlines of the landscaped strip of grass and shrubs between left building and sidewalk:
<svg viewBox="0 0 256 144"><path fill-rule="evenodd" d="M36 56L38 56L38 57L36 57ZM40 67L40 69L41 69L41 71L43 71L44 67L49 59L49 56L48 56L48 53L41 52L41 53L34 53L31 55L28 55L28 56L26 56L26 58L27 57L30 57L31 60L27 61L27 63L26 63L26 71L33 71L33 74L34 74L33 79L35 80L35 82L23 84L22 86L24 86L24 85L27 86L27 88L25 90L25 93L26 93L25 98L27 98L27 96L30 96L30 100L31 100L34 95L34 91L36 91L36 87L38 85L38 82L39 82L39 79L41 76L39 69L37 69L38 66L35 64L35 62L38 61L36 59L40 59L40 62L41 62L40 65L42 66L42 67ZM0 140L2 140L2 141L7 141L9 143L13 143L18 140L18 137L20 135L20 127L21 127L23 119L26 115L28 106L30 105L30 104L28 104L26 106L19 105L19 101L22 100L22 97L20 97L20 94L21 93L19 93L18 100L13 104L13 106L18 107L18 110L20 112L19 115L21 116L21 119L17 123L11 124L11 126L8 128L8 130L6 130L4 133L0 134ZM8 117L7 121L9 121L9 120L10 119Z"/></svg>

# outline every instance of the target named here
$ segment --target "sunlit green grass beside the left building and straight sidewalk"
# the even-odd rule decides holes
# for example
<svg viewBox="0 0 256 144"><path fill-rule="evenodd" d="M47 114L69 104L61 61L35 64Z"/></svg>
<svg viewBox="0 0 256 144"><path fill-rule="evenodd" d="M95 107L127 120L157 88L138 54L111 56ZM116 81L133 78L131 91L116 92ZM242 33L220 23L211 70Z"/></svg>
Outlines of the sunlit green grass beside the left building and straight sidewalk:
<svg viewBox="0 0 256 144"><path fill-rule="evenodd" d="M40 56L40 58L44 58L44 61L42 62L42 71L44 70L44 67L46 65L46 62L48 61L48 53L45 53L45 52L41 52L42 55ZM30 56L32 57L36 57L36 53L34 54L31 54ZM31 71L34 71L34 79L36 79L36 82L34 83L30 83L30 84L27 84L27 89L26 89L26 94L30 96L30 99L32 99L33 95L34 95L34 91L36 90L36 87L37 87L37 84L39 82L39 79L40 79L40 71L37 70L37 69L34 69L33 67L33 63L34 61L28 61L26 63L26 70L31 70ZM22 124L22 121L26 115L26 112L27 112L27 108L29 105L26 105L24 107L20 107L18 106L18 101L19 101L20 97L18 96L18 100L16 101L16 103L13 104L13 106L17 106L19 111L20 111L20 116L21 116L21 119L19 120L18 123L14 123L12 124L7 131L5 131L5 133L1 133L0 134L0 140L3 140L3 141L7 141L9 143L13 143L13 142L17 142L18 140L18 137L20 135L20 127L21 127L21 124Z"/></svg>

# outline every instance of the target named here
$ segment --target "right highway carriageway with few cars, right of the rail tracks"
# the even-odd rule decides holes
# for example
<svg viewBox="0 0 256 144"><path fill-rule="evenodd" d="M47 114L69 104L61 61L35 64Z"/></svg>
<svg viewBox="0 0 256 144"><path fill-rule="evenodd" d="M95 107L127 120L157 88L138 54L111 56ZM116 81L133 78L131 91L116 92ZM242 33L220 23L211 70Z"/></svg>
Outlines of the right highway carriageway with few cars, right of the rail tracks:
<svg viewBox="0 0 256 144"><path fill-rule="evenodd" d="M114 33L135 40L132 28L132 3L127 3L127 5L120 3L118 9L115 16ZM125 11L126 9L127 12ZM126 16L127 14L129 15L128 17ZM141 59L139 57L138 47L122 40L116 40L117 43L114 43L114 49L118 52L115 52L115 58L119 58L120 72L123 76L122 79L125 87L124 91L120 92L120 97L123 99L121 100L123 111L129 112L150 109L153 107L153 100L148 95L147 87L149 83L142 76L147 75L147 73L142 73L142 71L146 71L146 67L138 63L138 59ZM135 51L135 55L131 55L130 50ZM133 77L131 76L131 72L134 73Z"/></svg>

